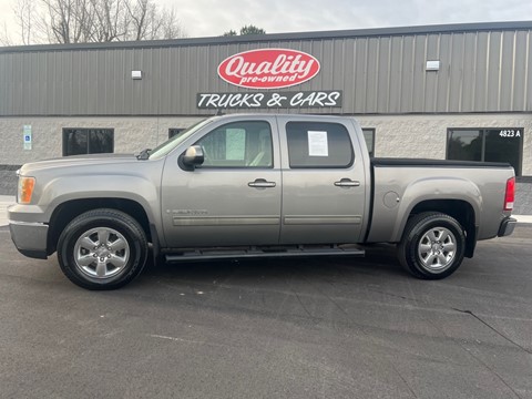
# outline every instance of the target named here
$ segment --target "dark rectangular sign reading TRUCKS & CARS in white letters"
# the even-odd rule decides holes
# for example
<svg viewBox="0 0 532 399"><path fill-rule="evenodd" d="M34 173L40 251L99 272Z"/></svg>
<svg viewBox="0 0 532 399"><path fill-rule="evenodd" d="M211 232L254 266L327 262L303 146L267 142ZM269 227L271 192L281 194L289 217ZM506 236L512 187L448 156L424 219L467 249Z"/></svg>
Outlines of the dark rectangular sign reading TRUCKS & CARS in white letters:
<svg viewBox="0 0 532 399"><path fill-rule="evenodd" d="M294 109L341 106L341 90L298 92L198 93L198 109Z"/></svg>

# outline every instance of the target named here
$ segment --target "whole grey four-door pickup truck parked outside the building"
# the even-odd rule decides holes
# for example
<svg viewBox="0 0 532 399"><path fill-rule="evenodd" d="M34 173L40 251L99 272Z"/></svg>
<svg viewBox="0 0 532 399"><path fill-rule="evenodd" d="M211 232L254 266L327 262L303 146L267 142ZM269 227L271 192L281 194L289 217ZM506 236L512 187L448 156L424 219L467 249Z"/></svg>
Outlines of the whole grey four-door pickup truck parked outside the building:
<svg viewBox="0 0 532 399"><path fill-rule="evenodd" d="M370 158L352 117L232 114L154 150L29 163L8 208L25 256L58 253L66 277L113 289L156 260L364 255L397 245L438 279L480 239L512 234L504 163Z"/></svg>

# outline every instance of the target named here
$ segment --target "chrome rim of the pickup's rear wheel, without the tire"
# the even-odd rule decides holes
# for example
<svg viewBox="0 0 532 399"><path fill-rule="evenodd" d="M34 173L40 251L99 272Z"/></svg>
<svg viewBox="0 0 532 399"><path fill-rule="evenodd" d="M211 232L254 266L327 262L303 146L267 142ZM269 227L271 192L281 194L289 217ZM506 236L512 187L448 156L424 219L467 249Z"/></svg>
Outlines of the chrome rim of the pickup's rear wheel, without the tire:
<svg viewBox="0 0 532 399"><path fill-rule="evenodd" d="M444 227L427 231L419 241L418 255L421 265L431 272L450 267L457 253L457 238Z"/></svg>

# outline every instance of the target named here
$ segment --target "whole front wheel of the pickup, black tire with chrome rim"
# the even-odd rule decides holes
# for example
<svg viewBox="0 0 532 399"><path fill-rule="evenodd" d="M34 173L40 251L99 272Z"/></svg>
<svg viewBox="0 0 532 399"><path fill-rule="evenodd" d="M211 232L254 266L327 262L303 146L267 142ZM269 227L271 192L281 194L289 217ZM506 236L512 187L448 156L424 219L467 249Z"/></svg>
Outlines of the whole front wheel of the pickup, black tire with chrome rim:
<svg viewBox="0 0 532 399"><path fill-rule="evenodd" d="M116 289L144 268L146 235L133 217L121 211L89 211L61 233L58 259L64 275L75 285L93 290Z"/></svg>

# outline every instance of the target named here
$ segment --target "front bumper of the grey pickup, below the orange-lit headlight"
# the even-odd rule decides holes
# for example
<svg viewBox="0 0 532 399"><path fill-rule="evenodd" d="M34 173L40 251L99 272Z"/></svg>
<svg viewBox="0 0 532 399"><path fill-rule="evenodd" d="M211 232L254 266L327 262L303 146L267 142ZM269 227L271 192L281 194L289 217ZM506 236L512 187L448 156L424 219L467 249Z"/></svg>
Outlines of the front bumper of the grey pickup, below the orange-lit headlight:
<svg viewBox="0 0 532 399"><path fill-rule="evenodd" d="M9 221L9 231L14 246L22 255L38 259L48 257L48 225L44 223Z"/></svg>

